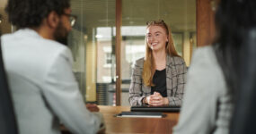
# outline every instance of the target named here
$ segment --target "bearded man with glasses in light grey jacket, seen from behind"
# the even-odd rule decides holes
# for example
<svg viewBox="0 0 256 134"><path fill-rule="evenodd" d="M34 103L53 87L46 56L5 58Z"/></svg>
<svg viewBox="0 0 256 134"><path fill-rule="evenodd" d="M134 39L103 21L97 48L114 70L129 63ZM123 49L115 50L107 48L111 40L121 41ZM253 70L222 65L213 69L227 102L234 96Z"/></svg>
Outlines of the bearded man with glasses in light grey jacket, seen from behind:
<svg viewBox="0 0 256 134"><path fill-rule="evenodd" d="M75 134L100 130L102 115L86 109L63 44L74 20L69 0L9 0L5 11L18 29L2 45L20 133L59 134L60 122Z"/></svg>

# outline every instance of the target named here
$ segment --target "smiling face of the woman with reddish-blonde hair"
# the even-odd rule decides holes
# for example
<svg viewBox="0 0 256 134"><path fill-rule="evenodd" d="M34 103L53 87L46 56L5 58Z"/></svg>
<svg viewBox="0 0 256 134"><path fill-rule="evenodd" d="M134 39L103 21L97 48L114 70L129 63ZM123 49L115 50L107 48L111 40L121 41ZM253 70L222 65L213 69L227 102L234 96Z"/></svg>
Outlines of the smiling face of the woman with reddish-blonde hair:
<svg viewBox="0 0 256 134"><path fill-rule="evenodd" d="M153 51L165 49L168 36L165 30L160 26L149 26L146 29L146 44Z"/></svg>

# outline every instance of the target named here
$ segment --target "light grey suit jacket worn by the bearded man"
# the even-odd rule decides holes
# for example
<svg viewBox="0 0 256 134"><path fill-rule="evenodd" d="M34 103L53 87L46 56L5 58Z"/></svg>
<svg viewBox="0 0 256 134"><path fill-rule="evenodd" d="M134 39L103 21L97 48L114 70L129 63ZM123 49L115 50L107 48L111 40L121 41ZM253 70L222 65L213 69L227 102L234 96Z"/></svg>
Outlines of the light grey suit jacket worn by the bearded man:
<svg viewBox="0 0 256 134"><path fill-rule="evenodd" d="M4 35L3 54L20 134L96 133L99 115L84 106L70 50L32 29Z"/></svg>

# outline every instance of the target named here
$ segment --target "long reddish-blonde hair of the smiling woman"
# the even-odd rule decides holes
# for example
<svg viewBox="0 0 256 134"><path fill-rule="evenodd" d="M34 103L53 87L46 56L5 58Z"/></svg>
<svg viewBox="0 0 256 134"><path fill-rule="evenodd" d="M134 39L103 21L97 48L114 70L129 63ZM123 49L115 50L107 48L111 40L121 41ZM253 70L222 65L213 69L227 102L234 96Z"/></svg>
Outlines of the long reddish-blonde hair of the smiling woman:
<svg viewBox="0 0 256 134"><path fill-rule="evenodd" d="M150 26L159 26L163 28L168 37L168 42L166 42L166 46L165 46L166 54L169 54L171 56L180 56L179 54L177 54L177 51L175 50L175 47L173 44L172 31L163 20L148 21L146 22L146 25L147 25L146 29L148 29ZM154 57L152 54L152 49L146 43L146 56L145 56L143 72L142 72L143 82L146 86L154 86L154 83L153 83L154 71L155 71L155 63L154 63Z"/></svg>

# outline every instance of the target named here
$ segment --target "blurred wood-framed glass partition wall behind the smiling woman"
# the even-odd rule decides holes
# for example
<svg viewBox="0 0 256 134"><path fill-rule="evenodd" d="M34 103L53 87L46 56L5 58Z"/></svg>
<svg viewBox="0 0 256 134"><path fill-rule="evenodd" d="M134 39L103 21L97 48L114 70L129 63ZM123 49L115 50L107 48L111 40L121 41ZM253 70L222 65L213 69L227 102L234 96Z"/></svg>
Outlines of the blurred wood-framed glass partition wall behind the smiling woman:
<svg viewBox="0 0 256 134"><path fill-rule="evenodd" d="M0 35L15 28L0 1ZM77 21L68 47L84 102L129 105L133 63L145 56L146 21L164 20L178 54L190 66L193 50L214 37L215 0L71 0ZM47 52L46 52L47 53Z"/></svg>

